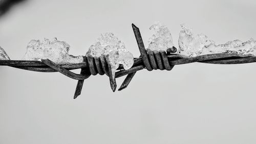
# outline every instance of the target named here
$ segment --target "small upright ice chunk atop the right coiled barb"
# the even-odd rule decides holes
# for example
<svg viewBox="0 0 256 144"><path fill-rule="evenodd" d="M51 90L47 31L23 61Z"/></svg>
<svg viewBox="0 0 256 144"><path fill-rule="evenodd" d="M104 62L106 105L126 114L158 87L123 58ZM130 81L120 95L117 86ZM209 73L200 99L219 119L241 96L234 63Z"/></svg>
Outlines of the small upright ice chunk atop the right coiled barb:
<svg viewBox="0 0 256 144"><path fill-rule="evenodd" d="M159 21L155 22L154 25L150 27L150 30L154 31L154 34L148 40L148 48L152 51L167 51L168 48L172 48L173 37L170 34L169 29L162 25Z"/></svg>

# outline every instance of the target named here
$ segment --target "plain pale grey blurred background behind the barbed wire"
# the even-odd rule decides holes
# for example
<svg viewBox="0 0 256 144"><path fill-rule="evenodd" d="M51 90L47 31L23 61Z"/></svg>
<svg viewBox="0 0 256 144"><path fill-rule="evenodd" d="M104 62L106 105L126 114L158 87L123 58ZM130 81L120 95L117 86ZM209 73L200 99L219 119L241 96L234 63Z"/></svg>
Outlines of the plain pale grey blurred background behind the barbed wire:
<svg viewBox="0 0 256 144"><path fill-rule="evenodd" d="M145 45L156 20L176 46L181 23L220 44L256 38L255 13L254 0L28 0L0 17L0 45L20 59L31 39L57 37L85 55L100 33L113 32L137 57L132 22ZM115 93L108 77L94 76L76 100L75 80L1 66L0 143L256 143L255 66L142 70Z"/></svg>

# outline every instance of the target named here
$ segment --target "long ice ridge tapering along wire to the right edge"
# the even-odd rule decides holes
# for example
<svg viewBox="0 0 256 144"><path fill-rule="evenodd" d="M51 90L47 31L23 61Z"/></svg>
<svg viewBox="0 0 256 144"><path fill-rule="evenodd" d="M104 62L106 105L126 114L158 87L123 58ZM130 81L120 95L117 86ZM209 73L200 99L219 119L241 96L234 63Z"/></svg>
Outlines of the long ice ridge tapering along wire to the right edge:
<svg viewBox="0 0 256 144"><path fill-rule="evenodd" d="M195 35L184 24L181 25L179 37L179 54L188 57L215 53L231 53L241 55L256 55L256 41L252 38L246 42L241 40L228 41L225 44L216 45L204 34Z"/></svg>

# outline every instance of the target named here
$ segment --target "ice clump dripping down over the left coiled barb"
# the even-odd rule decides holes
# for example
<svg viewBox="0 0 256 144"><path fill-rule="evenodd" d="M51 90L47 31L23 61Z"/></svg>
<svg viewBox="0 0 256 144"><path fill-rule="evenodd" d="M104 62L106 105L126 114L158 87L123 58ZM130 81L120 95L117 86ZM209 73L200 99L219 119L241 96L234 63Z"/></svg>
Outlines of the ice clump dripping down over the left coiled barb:
<svg viewBox="0 0 256 144"><path fill-rule="evenodd" d="M115 71L119 64L124 69L133 66L133 54L126 51L125 45L113 33L101 34L98 40L89 47L86 56L100 57L103 56L111 64L112 77L115 77Z"/></svg>

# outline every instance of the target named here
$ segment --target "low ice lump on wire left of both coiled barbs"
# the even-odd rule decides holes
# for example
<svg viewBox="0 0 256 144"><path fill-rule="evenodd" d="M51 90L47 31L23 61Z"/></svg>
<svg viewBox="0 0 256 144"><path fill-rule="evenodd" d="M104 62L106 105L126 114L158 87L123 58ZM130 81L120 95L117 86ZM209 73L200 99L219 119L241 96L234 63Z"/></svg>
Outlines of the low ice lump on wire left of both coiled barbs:
<svg viewBox="0 0 256 144"><path fill-rule="evenodd" d="M23 60L49 59L57 64L72 64L83 62L82 56L69 55L70 45L57 38L49 40L31 40L27 46L27 52Z"/></svg>

